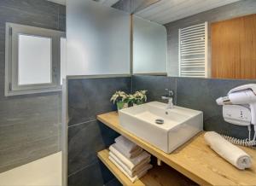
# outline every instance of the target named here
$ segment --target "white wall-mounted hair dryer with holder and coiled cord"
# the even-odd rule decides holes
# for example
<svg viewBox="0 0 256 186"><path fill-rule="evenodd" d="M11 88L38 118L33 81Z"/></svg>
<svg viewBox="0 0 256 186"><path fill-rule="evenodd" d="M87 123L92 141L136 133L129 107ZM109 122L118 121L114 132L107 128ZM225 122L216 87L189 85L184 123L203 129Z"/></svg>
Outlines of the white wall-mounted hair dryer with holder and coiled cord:
<svg viewBox="0 0 256 186"><path fill-rule="evenodd" d="M244 84L229 91L228 96L219 97L218 105L223 105L224 120L235 125L247 125L249 137L247 140L238 140L226 137L233 143L253 146L256 145L256 84ZM249 108L249 109L248 109ZM254 125L254 137L251 141L251 124Z"/></svg>

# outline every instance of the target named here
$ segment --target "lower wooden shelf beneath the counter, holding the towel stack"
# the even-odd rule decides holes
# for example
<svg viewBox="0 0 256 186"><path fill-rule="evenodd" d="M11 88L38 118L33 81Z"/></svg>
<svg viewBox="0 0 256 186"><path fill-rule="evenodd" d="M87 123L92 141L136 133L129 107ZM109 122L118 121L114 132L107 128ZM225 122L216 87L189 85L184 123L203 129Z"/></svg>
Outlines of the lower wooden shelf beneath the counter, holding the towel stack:
<svg viewBox="0 0 256 186"><path fill-rule="evenodd" d="M172 169L172 167L166 164L162 166L156 166L148 171L148 173L137 180L135 183L131 183L130 179L125 177L122 171L119 171L118 167L115 166L108 159L108 149L98 152L98 157L102 160L103 164L113 173L115 177L119 179L119 182L127 186L176 186L176 185L195 185L196 183L184 177L179 172Z"/></svg>

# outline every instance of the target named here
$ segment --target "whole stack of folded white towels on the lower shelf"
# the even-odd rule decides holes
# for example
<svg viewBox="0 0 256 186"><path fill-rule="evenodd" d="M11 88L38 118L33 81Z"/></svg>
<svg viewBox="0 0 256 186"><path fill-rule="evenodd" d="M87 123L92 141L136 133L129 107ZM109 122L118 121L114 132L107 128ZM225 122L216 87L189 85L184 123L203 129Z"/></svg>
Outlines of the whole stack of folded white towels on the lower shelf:
<svg viewBox="0 0 256 186"><path fill-rule="evenodd" d="M123 136L117 137L109 147L109 160L128 177L132 183L143 177L149 169L150 154Z"/></svg>

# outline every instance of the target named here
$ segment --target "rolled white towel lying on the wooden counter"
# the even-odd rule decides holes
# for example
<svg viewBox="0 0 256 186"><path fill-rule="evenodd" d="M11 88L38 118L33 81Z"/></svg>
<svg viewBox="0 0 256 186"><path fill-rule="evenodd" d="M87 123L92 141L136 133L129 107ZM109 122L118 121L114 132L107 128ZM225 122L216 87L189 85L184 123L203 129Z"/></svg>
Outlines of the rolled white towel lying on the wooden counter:
<svg viewBox="0 0 256 186"><path fill-rule="evenodd" d="M215 131L207 131L205 140L216 153L237 168L244 170L252 166L251 157L248 154L225 140L224 137L221 137Z"/></svg>

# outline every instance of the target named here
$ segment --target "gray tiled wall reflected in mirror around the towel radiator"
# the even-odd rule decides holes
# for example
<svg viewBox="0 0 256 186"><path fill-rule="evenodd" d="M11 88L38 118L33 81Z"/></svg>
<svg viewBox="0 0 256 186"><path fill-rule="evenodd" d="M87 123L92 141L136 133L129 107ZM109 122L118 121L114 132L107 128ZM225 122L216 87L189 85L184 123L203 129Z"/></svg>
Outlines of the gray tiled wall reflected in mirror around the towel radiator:
<svg viewBox="0 0 256 186"><path fill-rule="evenodd" d="M186 26L208 21L209 28L212 22L220 20L229 20L243 15L252 15L256 13L255 0L242 0L236 3L230 3L217 9L211 9L197 15L192 15L182 20L176 20L166 24L167 30L167 72L171 76L178 76L178 29ZM208 32L208 61L211 64L211 29Z"/></svg>

